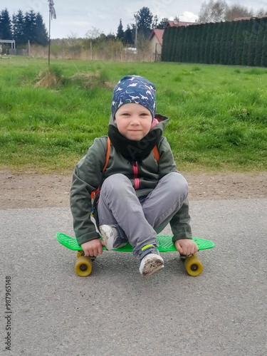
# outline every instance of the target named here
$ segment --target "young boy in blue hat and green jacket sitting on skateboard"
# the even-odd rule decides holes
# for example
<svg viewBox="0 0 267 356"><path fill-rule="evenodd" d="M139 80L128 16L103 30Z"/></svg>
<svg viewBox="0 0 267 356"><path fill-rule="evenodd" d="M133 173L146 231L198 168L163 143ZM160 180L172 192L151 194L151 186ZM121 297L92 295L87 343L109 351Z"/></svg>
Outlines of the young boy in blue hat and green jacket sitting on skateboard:
<svg viewBox="0 0 267 356"><path fill-rule="evenodd" d="M108 137L98 137L73 173L70 209L78 244L85 256L98 256L127 244L140 258L140 273L164 267L157 234L169 223L177 251L197 252L189 225L187 181L177 172L165 137L168 117L156 115L155 85L139 75L123 77L112 95ZM154 147L157 147L157 160ZM100 187L90 220L90 194Z"/></svg>

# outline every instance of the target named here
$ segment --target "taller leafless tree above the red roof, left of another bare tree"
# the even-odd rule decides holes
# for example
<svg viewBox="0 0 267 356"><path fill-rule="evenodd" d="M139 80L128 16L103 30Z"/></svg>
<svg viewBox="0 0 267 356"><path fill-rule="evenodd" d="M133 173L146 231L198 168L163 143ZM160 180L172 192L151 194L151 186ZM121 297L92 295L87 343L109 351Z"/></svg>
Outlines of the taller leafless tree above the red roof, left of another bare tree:
<svg viewBox="0 0 267 356"><path fill-rule="evenodd" d="M201 4L199 11L200 22L219 22L224 21L229 7L224 0L209 0Z"/></svg>

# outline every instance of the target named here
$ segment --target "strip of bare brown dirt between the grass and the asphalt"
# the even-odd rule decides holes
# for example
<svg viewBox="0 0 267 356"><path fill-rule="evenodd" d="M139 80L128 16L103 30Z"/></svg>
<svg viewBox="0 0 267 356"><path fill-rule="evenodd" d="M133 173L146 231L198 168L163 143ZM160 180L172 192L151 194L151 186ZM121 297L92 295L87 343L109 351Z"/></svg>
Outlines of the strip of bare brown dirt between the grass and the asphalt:
<svg viewBox="0 0 267 356"><path fill-rule="evenodd" d="M267 197L267 172L184 173L190 200ZM14 174L0 170L0 209L69 206L71 174Z"/></svg>

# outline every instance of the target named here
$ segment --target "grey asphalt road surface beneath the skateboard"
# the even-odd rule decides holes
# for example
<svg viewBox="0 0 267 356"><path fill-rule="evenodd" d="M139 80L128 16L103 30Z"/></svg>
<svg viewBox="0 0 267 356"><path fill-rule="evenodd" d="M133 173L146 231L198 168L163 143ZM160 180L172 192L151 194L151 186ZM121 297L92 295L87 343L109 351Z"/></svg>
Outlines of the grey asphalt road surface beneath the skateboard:
<svg viewBox="0 0 267 356"><path fill-rule="evenodd" d="M73 234L69 209L0 210L1 354L267 355L266 211L267 199L192 201L194 236L215 242L198 277L174 252L143 278L131 253L109 251L81 278L55 237Z"/></svg>

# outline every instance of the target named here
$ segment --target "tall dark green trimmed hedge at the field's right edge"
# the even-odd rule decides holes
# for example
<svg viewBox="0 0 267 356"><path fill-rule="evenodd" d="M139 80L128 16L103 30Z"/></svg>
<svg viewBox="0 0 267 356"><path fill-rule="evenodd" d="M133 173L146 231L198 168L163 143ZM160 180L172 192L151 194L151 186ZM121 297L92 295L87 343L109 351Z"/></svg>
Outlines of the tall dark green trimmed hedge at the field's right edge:
<svg viewBox="0 0 267 356"><path fill-rule="evenodd" d="M162 61L267 66L267 17L167 27Z"/></svg>

